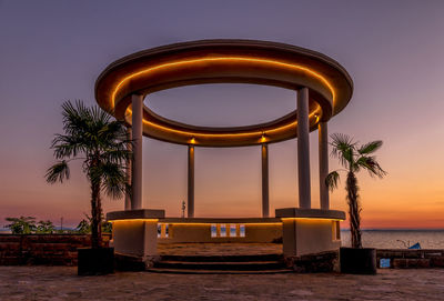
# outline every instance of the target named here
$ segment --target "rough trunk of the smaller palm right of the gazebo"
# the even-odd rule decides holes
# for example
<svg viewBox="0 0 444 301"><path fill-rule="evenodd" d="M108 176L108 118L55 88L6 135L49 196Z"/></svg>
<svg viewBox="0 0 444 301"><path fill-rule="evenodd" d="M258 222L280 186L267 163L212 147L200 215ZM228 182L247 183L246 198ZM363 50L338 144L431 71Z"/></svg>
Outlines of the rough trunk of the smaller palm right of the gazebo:
<svg viewBox="0 0 444 301"><path fill-rule="evenodd" d="M346 191L349 200L350 231L352 234L352 247L362 248L361 241L361 208L357 195L357 180L354 172L349 171L346 180Z"/></svg>

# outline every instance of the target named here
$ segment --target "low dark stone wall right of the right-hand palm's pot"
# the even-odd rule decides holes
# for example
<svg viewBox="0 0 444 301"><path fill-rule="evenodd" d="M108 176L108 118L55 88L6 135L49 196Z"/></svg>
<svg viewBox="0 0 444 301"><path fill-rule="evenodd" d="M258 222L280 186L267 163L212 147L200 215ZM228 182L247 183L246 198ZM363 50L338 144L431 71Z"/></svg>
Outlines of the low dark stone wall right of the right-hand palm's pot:
<svg viewBox="0 0 444 301"><path fill-rule="evenodd" d="M390 259L392 269L444 268L444 250L438 249L379 249L376 262Z"/></svg>

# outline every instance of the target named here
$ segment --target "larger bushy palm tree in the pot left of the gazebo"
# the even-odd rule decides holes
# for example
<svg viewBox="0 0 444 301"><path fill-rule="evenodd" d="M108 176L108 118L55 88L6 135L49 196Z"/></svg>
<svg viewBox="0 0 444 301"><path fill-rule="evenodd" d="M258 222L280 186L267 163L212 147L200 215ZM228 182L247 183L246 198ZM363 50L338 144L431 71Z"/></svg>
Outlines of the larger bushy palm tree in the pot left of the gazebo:
<svg viewBox="0 0 444 301"><path fill-rule="evenodd" d="M47 170L49 183L63 182L70 178L69 162L82 160L82 169L91 188L91 244L101 247L102 204L101 193L113 199L128 190L124 162L131 157L127 130L121 121L99 107L85 107L81 101L73 106L62 104L64 134L56 134L51 149L59 160Z"/></svg>

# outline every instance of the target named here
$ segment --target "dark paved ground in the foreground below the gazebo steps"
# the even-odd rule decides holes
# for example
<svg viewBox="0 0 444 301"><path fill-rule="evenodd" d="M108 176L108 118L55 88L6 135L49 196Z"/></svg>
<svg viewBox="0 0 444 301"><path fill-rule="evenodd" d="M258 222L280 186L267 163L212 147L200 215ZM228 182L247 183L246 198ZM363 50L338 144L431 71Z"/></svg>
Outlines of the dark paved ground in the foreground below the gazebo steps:
<svg viewBox="0 0 444 301"><path fill-rule="evenodd" d="M444 269L380 270L377 275L75 272L0 267L0 300L444 300Z"/></svg>

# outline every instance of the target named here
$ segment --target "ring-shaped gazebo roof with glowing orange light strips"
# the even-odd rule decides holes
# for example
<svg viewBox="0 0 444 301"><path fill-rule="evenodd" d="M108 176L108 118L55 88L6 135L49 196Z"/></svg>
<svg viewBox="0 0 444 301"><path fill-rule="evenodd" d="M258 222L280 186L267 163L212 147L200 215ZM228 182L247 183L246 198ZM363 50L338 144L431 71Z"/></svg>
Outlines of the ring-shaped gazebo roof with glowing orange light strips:
<svg viewBox="0 0 444 301"><path fill-rule="evenodd" d="M353 81L333 59L295 46L252 40L202 40L140 51L111 63L95 82L99 106L131 124L131 94L202 83L256 83L310 90L310 126L349 103ZM236 128L195 127L147 106L143 134L201 147L254 146L296 137L297 110L271 122Z"/></svg>

